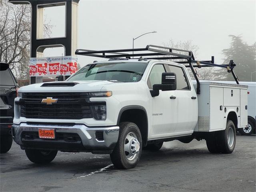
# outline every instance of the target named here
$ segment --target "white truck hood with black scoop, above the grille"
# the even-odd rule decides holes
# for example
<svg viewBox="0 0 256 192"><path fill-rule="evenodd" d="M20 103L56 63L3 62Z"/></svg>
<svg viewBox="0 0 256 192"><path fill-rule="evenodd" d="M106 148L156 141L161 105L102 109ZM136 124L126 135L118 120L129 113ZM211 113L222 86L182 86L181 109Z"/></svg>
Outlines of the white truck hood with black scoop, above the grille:
<svg viewBox="0 0 256 192"><path fill-rule="evenodd" d="M70 86L62 86L62 83ZM106 80L44 82L23 86L19 92L92 92L101 91L104 86L111 84L123 84L123 82Z"/></svg>

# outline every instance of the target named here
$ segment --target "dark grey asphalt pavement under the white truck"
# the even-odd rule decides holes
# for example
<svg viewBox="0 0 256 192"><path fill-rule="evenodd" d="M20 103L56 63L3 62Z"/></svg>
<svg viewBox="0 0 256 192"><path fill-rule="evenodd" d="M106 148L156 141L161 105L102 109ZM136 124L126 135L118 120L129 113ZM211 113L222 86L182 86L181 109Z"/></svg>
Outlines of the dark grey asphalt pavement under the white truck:
<svg viewBox="0 0 256 192"><path fill-rule="evenodd" d="M143 151L130 170L113 167L109 155L58 152L52 163L36 165L13 142L0 155L0 191L138 192L256 191L256 136L237 136L232 154L210 154L205 140L167 142Z"/></svg>

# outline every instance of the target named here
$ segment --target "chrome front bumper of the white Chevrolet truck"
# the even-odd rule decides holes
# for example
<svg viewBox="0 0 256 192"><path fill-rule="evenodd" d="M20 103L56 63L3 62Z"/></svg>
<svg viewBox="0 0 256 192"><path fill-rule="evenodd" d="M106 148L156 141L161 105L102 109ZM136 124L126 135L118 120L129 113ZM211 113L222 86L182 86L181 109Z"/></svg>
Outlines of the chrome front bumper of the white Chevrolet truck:
<svg viewBox="0 0 256 192"><path fill-rule="evenodd" d="M39 128L55 130L55 139L38 137ZM96 132L100 133L98 140ZM50 125L50 124L13 124L12 136L21 148L60 150L67 152L111 153L118 140L119 127L87 127L84 124Z"/></svg>

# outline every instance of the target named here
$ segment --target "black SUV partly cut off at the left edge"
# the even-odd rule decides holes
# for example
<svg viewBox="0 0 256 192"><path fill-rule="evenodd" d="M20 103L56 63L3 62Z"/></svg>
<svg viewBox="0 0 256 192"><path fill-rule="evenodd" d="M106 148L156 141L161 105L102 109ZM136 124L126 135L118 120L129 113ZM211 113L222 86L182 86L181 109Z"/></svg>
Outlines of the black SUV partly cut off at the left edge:
<svg viewBox="0 0 256 192"><path fill-rule="evenodd" d="M6 63L0 63L0 152L6 153L12 146L11 127L14 118L14 98L18 83Z"/></svg>

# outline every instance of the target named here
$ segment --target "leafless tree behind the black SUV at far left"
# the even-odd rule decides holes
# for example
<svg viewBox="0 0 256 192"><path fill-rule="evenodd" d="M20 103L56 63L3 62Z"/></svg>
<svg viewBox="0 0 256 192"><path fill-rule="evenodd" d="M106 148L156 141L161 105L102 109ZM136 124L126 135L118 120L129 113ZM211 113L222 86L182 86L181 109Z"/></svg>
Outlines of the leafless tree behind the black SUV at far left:
<svg viewBox="0 0 256 192"><path fill-rule="evenodd" d="M29 77L30 16L29 4L0 0L0 62L8 63L17 79ZM50 36L51 28L44 24L46 36Z"/></svg>

